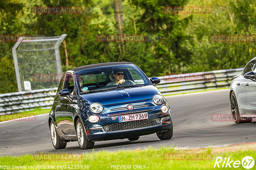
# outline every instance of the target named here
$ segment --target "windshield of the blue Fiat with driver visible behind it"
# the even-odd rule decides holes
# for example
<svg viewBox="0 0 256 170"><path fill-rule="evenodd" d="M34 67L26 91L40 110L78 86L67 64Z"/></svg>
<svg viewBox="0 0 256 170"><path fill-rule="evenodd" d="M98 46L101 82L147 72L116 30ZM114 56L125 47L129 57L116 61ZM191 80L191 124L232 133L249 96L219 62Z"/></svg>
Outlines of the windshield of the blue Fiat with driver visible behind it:
<svg viewBox="0 0 256 170"><path fill-rule="evenodd" d="M132 64L84 69L76 72L80 93L152 85L139 67Z"/></svg>

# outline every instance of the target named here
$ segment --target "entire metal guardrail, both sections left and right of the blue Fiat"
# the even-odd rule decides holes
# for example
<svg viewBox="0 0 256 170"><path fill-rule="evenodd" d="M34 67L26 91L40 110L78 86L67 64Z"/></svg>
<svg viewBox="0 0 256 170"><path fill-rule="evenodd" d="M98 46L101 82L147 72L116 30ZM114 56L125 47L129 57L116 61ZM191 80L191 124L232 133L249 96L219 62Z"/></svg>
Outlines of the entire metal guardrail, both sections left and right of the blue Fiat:
<svg viewBox="0 0 256 170"><path fill-rule="evenodd" d="M156 87L163 95L229 87L232 77L243 68L159 77ZM51 107L57 88L0 94L0 115L18 113L37 107Z"/></svg>

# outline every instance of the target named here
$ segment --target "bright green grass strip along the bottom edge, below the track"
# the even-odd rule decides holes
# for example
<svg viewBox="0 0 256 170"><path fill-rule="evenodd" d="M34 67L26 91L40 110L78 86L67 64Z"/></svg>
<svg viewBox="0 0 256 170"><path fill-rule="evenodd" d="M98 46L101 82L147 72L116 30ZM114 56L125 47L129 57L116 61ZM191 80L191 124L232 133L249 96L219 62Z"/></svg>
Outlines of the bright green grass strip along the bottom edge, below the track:
<svg viewBox="0 0 256 170"><path fill-rule="evenodd" d="M241 147L242 148L242 147ZM192 150L195 153L211 153L211 149L204 149L204 150ZM212 153L211 160L164 160L163 155L164 153L191 153L190 151L185 150L175 150L174 148L166 148L161 147L159 149L148 148L145 150L134 150L134 151L116 151L116 152L108 152L108 151L100 151L100 152L93 152L88 154L83 154L81 160L55 160L51 157L50 160L35 160L33 155L24 155L24 156L4 156L0 157L0 164L11 166L63 166L66 165L69 169L73 165L73 169L75 169L74 165L89 165L89 169L114 169L111 168L111 165L145 165L145 169L152 169L152 170L178 170L178 169L216 169L213 168L215 160L217 157L230 157L230 160L239 160L245 156L251 156L252 158L256 158L255 150L246 150L241 151L238 150L236 152L225 152L225 153ZM56 153L51 153L55 154ZM42 157L43 158L43 157ZM230 164L233 166L234 161ZM220 167L222 166L223 161L219 164ZM226 165L226 164L225 164ZM255 165L256 166L256 165ZM255 167L254 166L254 167ZM143 167L143 166L142 166ZM28 168L28 167L27 167ZM20 168L25 169L25 168ZM36 169L36 168L34 168ZM39 169L39 168L37 168ZM42 169L42 168L41 168ZM65 168L64 168L65 169ZM67 168L68 169L68 168ZM217 168L223 169L223 168ZM231 169L231 168L229 168ZM233 167L232 167L233 169ZM239 165L236 169L244 169L242 165ZM252 168L253 169L253 168Z"/></svg>

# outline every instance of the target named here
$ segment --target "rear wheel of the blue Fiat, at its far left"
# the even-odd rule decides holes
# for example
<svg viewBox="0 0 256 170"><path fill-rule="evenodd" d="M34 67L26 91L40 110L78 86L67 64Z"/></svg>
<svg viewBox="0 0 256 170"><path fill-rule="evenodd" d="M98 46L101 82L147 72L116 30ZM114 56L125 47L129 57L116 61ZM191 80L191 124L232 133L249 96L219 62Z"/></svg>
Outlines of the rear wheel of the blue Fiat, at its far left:
<svg viewBox="0 0 256 170"><path fill-rule="evenodd" d="M52 138L52 145L55 149L65 149L67 146L67 142L65 140L62 140L56 131L55 124L53 120L50 124L50 131L51 131L51 138Z"/></svg>

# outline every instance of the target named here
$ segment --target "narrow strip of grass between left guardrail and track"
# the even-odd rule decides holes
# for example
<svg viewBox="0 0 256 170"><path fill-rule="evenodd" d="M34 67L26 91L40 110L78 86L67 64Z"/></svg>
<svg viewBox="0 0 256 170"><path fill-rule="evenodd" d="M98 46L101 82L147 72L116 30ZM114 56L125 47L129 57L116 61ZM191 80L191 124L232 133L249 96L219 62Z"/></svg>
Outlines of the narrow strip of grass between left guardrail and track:
<svg viewBox="0 0 256 170"><path fill-rule="evenodd" d="M0 116L0 122L6 121L6 120L22 118L22 117L40 115L40 114L44 114L44 113L50 113L50 111L51 111L51 109L36 108L36 109L30 110L30 111L24 111L24 112L20 112L20 113L9 114L9 115L2 115L2 116Z"/></svg>

